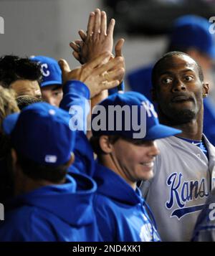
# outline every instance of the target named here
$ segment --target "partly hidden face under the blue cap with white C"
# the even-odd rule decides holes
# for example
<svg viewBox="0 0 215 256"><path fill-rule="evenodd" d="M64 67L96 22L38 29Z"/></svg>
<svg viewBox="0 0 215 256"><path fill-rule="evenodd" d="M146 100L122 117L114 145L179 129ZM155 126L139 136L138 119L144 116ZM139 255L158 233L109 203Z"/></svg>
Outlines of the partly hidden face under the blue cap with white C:
<svg viewBox="0 0 215 256"><path fill-rule="evenodd" d="M62 86L61 85L47 85L41 88L42 99L47 103L59 107L62 100Z"/></svg>

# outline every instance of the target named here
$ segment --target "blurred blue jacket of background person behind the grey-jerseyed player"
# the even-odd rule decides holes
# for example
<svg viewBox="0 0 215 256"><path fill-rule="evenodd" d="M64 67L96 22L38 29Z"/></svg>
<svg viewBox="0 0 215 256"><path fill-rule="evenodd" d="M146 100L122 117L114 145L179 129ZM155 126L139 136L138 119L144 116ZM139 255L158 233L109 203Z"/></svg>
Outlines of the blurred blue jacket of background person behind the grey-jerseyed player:
<svg viewBox="0 0 215 256"><path fill-rule="evenodd" d="M151 73L153 66L143 67L128 74L131 90L142 93L151 100ZM156 104L155 104L156 107ZM204 134L215 146L215 104L210 98L204 99Z"/></svg>

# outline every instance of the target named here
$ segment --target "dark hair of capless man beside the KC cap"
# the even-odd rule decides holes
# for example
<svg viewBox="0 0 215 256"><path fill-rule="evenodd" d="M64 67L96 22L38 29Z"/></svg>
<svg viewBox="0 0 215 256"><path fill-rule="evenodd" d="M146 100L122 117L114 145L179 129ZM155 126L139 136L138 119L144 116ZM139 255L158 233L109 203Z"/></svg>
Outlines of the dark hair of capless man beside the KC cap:
<svg viewBox="0 0 215 256"><path fill-rule="evenodd" d="M0 58L0 82L4 87L9 87L16 80L37 80L42 82L41 67L29 58L16 55L5 55Z"/></svg>

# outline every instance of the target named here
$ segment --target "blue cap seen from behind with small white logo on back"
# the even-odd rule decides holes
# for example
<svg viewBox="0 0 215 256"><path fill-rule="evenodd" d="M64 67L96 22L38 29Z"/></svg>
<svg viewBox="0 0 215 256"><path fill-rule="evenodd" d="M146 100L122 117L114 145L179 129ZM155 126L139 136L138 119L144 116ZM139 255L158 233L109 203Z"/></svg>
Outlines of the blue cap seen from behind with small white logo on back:
<svg viewBox="0 0 215 256"><path fill-rule="evenodd" d="M8 115L3 129L18 153L40 164L59 166L70 160L75 146L75 131L71 131L69 122L65 110L34 103Z"/></svg>

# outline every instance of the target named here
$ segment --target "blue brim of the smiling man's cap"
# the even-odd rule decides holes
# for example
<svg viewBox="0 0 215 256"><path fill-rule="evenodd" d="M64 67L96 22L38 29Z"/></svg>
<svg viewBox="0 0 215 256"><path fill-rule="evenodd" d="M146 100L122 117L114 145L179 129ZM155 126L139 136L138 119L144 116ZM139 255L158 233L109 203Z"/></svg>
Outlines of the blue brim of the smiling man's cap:
<svg viewBox="0 0 215 256"><path fill-rule="evenodd" d="M175 136L178 133L181 133L181 130L168 127L166 125L155 125L147 131L146 136L143 138L144 141L154 141L159 138L166 138L170 136Z"/></svg>

